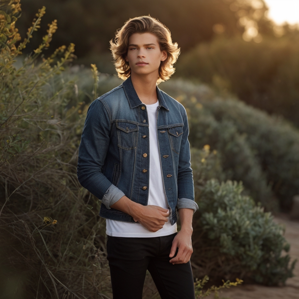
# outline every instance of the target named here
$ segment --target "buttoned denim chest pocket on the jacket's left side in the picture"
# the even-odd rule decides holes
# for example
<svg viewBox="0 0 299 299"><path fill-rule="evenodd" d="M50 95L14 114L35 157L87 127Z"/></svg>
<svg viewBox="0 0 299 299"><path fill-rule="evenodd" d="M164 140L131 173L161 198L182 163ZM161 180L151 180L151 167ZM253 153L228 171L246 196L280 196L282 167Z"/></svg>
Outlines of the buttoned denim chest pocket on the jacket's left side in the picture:
<svg viewBox="0 0 299 299"><path fill-rule="evenodd" d="M138 126L130 122L116 122L117 145L124 150L132 150L136 147Z"/></svg>

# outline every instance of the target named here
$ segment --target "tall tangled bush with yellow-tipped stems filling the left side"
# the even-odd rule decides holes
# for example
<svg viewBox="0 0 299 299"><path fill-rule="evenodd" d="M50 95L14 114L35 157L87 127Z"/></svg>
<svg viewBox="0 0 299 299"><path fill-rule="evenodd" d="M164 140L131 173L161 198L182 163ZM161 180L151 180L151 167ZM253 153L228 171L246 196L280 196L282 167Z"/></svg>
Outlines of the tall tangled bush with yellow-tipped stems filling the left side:
<svg viewBox="0 0 299 299"><path fill-rule="evenodd" d="M45 8L16 47L19 12L17 0L0 4L0 292L6 298L101 297L110 291L105 221L76 175L84 104L74 82L60 74L74 45L38 60L54 21L16 69Z"/></svg>

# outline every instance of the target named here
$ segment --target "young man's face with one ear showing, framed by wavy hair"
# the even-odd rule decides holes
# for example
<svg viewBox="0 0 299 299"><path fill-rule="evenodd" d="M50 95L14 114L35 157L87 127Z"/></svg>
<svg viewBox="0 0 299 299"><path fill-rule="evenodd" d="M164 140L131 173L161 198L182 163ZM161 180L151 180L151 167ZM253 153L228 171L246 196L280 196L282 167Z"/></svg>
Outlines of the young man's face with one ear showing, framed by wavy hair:
<svg viewBox="0 0 299 299"><path fill-rule="evenodd" d="M157 37L152 33L134 33L129 38L126 61L129 62L131 74L147 75L157 73L161 61L167 58L167 52L161 51Z"/></svg>

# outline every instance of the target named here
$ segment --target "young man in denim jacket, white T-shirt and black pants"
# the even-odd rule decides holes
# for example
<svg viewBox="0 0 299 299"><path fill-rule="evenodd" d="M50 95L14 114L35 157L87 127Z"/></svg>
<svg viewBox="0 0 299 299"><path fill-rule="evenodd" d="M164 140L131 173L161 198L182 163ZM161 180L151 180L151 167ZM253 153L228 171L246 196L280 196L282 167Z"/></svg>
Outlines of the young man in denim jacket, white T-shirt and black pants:
<svg viewBox="0 0 299 299"><path fill-rule="evenodd" d="M193 299L192 215L198 206L187 115L157 87L173 74L179 48L149 16L127 21L110 43L126 81L88 109L78 179L102 200L113 298L141 299L148 269L162 299Z"/></svg>

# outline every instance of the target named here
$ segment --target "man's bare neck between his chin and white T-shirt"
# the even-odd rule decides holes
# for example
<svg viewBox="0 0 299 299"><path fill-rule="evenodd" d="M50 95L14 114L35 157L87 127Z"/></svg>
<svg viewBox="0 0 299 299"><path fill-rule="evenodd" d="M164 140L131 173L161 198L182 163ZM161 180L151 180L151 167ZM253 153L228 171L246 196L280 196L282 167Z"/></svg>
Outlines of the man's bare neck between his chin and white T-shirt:
<svg viewBox="0 0 299 299"><path fill-rule="evenodd" d="M146 105L151 105L157 102L157 75L147 74L140 76L139 74L131 73L131 80L134 89L141 102Z"/></svg>

